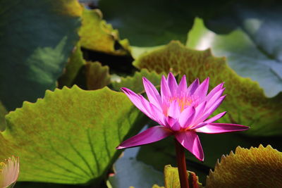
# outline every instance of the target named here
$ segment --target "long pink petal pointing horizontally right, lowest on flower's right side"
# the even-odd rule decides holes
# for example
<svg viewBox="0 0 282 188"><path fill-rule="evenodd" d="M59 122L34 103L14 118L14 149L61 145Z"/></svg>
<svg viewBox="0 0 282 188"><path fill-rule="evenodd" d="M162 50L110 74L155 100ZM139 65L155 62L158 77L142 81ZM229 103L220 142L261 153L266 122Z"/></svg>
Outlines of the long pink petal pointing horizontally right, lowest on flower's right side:
<svg viewBox="0 0 282 188"><path fill-rule="evenodd" d="M204 127L200 127L196 129L196 132L204 132L209 134L216 134L222 132L236 132L236 131L243 131L248 130L250 127L244 125L237 125L237 124L226 124L226 123L210 123L205 125Z"/></svg>

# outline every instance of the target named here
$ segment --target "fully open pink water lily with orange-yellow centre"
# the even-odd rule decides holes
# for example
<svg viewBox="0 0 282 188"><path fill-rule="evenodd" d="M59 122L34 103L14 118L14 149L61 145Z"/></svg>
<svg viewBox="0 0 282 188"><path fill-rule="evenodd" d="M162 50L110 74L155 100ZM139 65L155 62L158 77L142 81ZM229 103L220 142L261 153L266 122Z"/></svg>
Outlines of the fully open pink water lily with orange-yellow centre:
<svg viewBox="0 0 282 188"><path fill-rule="evenodd" d="M221 96L225 89L223 83L207 94L209 77L201 84L199 79L196 79L187 87L185 75L177 84L173 74L169 73L167 80L164 76L161 78L161 94L145 77L143 77L143 84L149 101L130 89L121 88L121 90L140 111L159 125L125 140L116 149L149 144L174 135L185 149L188 149L200 161L204 161L204 152L197 132L215 134L243 131L249 128L244 125L214 123L226 112L209 118L226 97Z"/></svg>

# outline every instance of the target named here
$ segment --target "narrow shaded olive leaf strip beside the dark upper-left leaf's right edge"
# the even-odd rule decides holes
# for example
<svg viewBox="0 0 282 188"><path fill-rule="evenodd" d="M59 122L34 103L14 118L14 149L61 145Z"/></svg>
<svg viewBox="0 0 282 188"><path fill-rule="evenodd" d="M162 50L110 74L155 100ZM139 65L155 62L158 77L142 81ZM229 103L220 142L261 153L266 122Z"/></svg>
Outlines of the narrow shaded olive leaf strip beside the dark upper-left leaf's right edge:
<svg viewBox="0 0 282 188"><path fill-rule="evenodd" d="M66 64L66 70L64 70L63 75L59 78L59 88L62 88L63 86L72 87L73 81L75 80L75 77L78 76L80 68L85 64L86 61L84 60L80 49L80 42L78 42Z"/></svg>

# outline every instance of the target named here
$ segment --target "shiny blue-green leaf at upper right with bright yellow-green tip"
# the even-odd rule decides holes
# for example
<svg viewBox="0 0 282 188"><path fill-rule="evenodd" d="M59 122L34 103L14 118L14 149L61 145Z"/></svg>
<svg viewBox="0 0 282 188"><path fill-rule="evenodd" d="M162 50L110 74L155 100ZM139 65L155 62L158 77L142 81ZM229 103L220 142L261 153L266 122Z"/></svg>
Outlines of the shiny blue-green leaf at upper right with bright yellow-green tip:
<svg viewBox="0 0 282 188"><path fill-rule="evenodd" d="M212 48L216 56L227 57L228 65L238 75L259 82L266 96L276 96L282 91L282 27L278 24L282 17L278 18L279 22L274 24L275 20L250 17L244 20L242 29L227 35L216 35L207 30L202 20L197 18L189 32L187 46L199 50Z"/></svg>

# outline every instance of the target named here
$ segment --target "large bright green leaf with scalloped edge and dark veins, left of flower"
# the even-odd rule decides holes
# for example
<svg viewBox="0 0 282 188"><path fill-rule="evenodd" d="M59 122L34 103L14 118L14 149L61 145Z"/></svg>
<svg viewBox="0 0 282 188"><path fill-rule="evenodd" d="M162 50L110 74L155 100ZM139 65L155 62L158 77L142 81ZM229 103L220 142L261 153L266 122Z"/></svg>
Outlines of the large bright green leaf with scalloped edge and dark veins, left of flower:
<svg viewBox="0 0 282 188"><path fill-rule="evenodd" d="M20 181L98 183L118 158L116 150L142 115L121 92L76 86L47 91L6 115L0 159L20 157Z"/></svg>

